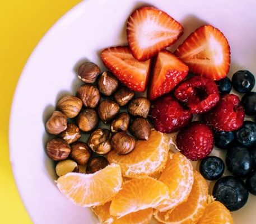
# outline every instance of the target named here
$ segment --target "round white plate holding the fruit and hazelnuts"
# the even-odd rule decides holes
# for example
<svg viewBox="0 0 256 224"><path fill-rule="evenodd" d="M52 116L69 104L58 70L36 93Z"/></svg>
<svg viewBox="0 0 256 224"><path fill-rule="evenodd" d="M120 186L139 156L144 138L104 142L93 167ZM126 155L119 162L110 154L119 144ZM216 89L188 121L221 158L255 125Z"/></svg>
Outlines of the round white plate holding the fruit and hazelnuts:
<svg viewBox="0 0 256 224"><path fill-rule="evenodd" d="M81 85L77 65L91 60L103 68L101 49L127 44L125 25L139 6L166 11L184 26L175 48L204 24L218 27L231 46L230 74L238 69L256 72L256 3L234 0L90 0L78 4L50 29L28 60L12 105L10 157L22 200L35 223L99 223L90 209L73 205L58 191L54 167L45 155L44 123L60 96ZM219 153L220 151L215 151ZM235 223L255 223L256 197L234 212Z"/></svg>

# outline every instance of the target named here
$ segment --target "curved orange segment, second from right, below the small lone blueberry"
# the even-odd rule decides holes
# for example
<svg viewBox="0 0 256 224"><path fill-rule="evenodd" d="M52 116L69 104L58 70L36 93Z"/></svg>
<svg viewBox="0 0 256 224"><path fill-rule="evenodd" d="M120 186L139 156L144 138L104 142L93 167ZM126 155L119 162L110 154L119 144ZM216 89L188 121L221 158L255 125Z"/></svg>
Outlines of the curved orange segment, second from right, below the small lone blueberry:
<svg viewBox="0 0 256 224"><path fill-rule="evenodd" d="M194 183L188 200L166 212L154 212L155 218L163 223L191 224L197 223L206 208L208 186L199 172L194 171Z"/></svg>

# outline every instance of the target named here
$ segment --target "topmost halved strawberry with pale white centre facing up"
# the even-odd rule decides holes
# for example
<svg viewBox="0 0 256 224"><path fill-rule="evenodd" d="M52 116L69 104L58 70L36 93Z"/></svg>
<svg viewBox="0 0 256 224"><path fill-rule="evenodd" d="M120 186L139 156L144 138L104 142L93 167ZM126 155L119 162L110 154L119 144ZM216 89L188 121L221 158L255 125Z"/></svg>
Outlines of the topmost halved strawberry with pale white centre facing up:
<svg viewBox="0 0 256 224"><path fill-rule="evenodd" d="M127 40L133 57L147 60L173 44L183 27L167 13L153 7L134 11L127 21Z"/></svg>

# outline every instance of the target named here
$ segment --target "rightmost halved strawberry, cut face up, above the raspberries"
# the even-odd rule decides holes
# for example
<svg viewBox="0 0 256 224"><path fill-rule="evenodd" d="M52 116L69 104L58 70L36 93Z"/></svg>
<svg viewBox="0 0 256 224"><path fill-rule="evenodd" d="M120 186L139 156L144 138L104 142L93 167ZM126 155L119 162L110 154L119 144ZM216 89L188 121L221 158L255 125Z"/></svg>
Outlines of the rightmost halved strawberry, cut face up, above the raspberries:
<svg viewBox="0 0 256 224"><path fill-rule="evenodd" d="M211 25L201 26L190 34L175 54L198 76L220 80L229 72L229 43L224 34Z"/></svg>

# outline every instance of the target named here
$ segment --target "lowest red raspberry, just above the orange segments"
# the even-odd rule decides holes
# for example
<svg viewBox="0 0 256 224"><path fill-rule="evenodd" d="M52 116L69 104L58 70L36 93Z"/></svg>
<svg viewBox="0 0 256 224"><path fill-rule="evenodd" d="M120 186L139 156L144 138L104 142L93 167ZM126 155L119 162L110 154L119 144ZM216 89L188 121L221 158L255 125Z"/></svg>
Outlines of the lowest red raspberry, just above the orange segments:
<svg viewBox="0 0 256 224"><path fill-rule="evenodd" d="M177 147L190 160L202 160L213 149L213 133L210 127L201 122L192 124L179 132Z"/></svg>

